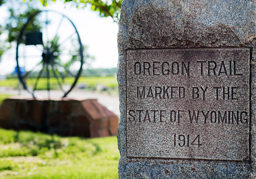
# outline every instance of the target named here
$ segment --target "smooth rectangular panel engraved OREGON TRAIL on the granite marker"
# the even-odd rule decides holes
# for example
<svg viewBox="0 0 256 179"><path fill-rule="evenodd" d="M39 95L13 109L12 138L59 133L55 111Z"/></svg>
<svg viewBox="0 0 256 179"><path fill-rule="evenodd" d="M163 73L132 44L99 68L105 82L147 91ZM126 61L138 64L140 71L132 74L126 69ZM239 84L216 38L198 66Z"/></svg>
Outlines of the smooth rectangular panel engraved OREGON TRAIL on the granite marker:
<svg viewBox="0 0 256 179"><path fill-rule="evenodd" d="M250 49L127 50L127 157L250 159Z"/></svg>

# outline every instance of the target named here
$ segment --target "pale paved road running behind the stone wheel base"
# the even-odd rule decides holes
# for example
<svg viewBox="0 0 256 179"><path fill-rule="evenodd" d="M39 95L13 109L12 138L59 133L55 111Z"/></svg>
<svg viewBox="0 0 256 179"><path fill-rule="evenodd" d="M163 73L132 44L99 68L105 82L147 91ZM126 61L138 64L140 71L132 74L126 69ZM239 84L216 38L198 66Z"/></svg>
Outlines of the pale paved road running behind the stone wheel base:
<svg viewBox="0 0 256 179"><path fill-rule="evenodd" d="M14 95L12 98L32 98L32 95L25 90L18 91L5 87L0 88L0 94ZM35 95L38 99L48 99L48 93L45 90L36 91ZM51 90L50 99L60 99L61 95L63 95L61 90ZM99 103L106 106L110 111L113 111L117 116L120 116L118 95L107 95L106 93L73 89L69 93L68 98L76 100L97 99Z"/></svg>

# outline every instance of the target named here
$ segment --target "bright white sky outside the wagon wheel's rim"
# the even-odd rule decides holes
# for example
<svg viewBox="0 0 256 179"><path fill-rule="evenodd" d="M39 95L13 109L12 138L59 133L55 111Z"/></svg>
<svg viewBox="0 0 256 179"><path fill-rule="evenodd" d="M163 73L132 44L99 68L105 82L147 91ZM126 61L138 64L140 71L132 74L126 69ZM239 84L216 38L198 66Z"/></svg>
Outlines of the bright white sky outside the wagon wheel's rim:
<svg viewBox="0 0 256 179"><path fill-rule="evenodd" d="M117 67L117 32L118 25L111 17L100 17L90 7L77 9L75 6L62 2L51 2L42 10L54 10L63 13L75 24L81 41L88 46L88 53L95 57L91 68ZM8 12L4 5L0 6L0 24L4 24L8 18ZM63 29L59 33L65 33ZM0 74L11 73L16 67L16 49L5 53L0 62ZM26 64L29 67L29 64ZM31 64L32 66L33 64ZM26 67L26 68L27 68ZM32 67L31 67L32 68Z"/></svg>

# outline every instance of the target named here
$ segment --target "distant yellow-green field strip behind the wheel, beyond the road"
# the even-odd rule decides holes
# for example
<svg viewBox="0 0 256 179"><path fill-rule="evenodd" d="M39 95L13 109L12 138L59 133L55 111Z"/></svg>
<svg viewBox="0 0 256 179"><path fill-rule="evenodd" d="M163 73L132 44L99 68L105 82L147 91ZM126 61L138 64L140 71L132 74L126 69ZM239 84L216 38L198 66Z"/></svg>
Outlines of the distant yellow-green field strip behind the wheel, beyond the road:
<svg viewBox="0 0 256 179"><path fill-rule="evenodd" d="M27 79L27 85L34 86L36 82L36 78ZM64 84L72 84L74 82L74 78L67 77L64 79ZM18 88L18 79L6 79L4 81L0 81L0 86L9 86L15 89ZM50 79L51 89L58 89L57 79ZM80 77L78 79L77 84L87 84L89 87L96 87L97 85L104 85L109 88L117 87L117 79L115 77ZM38 81L37 89L47 89L47 79L42 78Z"/></svg>

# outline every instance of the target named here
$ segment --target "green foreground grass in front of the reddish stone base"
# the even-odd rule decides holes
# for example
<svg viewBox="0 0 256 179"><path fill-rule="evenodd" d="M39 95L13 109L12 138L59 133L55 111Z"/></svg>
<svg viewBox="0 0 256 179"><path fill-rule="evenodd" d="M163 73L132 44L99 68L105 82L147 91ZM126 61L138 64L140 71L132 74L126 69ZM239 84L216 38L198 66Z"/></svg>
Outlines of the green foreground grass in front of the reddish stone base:
<svg viewBox="0 0 256 179"><path fill-rule="evenodd" d="M0 179L118 179L116 137L0 129Z"/></svg>

